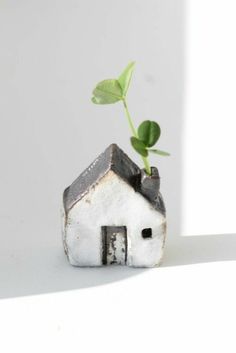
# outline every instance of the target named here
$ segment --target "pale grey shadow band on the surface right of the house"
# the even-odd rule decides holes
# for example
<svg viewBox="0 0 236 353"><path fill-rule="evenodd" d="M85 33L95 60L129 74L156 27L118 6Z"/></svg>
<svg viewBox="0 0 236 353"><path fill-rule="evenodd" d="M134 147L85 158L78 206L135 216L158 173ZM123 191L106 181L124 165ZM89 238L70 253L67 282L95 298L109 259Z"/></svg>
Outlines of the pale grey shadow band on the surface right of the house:
<svg viewBox="0 0 236 353"><path fill-rule="evenodd" d="M167 241L164 267L236 260L236 234L176 237Z"/></svg>

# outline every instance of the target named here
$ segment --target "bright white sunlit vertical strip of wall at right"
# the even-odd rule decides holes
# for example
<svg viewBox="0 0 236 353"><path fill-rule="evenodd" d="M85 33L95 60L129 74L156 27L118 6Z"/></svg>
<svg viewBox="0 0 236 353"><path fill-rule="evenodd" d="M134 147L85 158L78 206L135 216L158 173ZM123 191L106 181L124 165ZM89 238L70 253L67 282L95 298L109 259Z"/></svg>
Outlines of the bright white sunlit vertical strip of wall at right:
<svg viewBox="0 0 236 353"><path fill-rule="evenodd" d="M183 234L235 233L236 4L187 2Z"/></svg>

